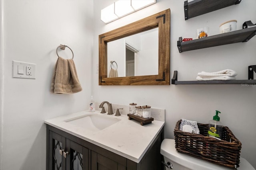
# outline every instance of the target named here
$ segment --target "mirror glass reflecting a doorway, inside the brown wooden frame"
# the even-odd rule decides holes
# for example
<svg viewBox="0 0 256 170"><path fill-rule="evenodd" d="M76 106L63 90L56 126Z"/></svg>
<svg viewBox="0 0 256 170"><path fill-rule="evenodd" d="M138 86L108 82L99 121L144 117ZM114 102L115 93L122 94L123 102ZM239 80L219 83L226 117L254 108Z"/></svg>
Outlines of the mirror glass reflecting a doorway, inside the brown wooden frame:
<svg viewBox="0 0 256 170"><path fill-rule="evenodd" d="M118 63L118 77L158 74L158 27L107 43L108 77ZM111 69L112 68L112 69Z"/></svg>

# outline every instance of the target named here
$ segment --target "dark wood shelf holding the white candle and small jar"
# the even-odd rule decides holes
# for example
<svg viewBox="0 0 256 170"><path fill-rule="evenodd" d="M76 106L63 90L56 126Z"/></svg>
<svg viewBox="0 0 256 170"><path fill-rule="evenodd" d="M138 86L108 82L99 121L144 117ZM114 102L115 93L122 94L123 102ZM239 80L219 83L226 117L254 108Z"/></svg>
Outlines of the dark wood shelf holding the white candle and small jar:
<svg viewBox="0 0 256 170"><path fill-rule="evenodd" d="M184 51L190 51L195 49L203 49L208 47L214 47L218 45L247 42L254 35L256 35L256 27L250 27L245 29L240 29L237 31L231 31L228 33L222 33L217 35L212 35L209 37L204 37L200 39L194 39L191 41L182 42L182 37L177 41L178 50L180 53Z"/></svg>

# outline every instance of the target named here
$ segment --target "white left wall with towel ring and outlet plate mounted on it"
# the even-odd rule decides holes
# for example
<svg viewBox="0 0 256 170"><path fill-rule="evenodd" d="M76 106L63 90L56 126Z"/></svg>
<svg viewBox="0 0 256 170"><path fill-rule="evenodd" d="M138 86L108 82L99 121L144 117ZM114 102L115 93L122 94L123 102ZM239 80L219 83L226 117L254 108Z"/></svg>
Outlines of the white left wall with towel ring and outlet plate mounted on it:
<svg viewBox="0 0 256 170"><path fill-rule="evenodd" d="M0 170L45 170L44 120L89 106L93 1L1 0L2 12ZM50 94L61 43L74 52L82 92ZM61 53L64 58L70 55L67 48ZM12 78L13 60L35 63L36 79Z"/></svg>

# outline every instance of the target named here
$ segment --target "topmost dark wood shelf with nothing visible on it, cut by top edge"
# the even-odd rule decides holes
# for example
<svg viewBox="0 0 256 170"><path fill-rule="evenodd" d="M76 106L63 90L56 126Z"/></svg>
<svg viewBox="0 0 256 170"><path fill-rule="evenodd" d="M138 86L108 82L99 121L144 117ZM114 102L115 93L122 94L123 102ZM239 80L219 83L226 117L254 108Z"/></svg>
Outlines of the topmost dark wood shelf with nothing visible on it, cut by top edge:
<svg viewBox="0 0 256 170"><path fill-rule="evenodd" d="M184 2L185 20L225 8L227 6L239 4L241 0L193 0Z"/></svg>

